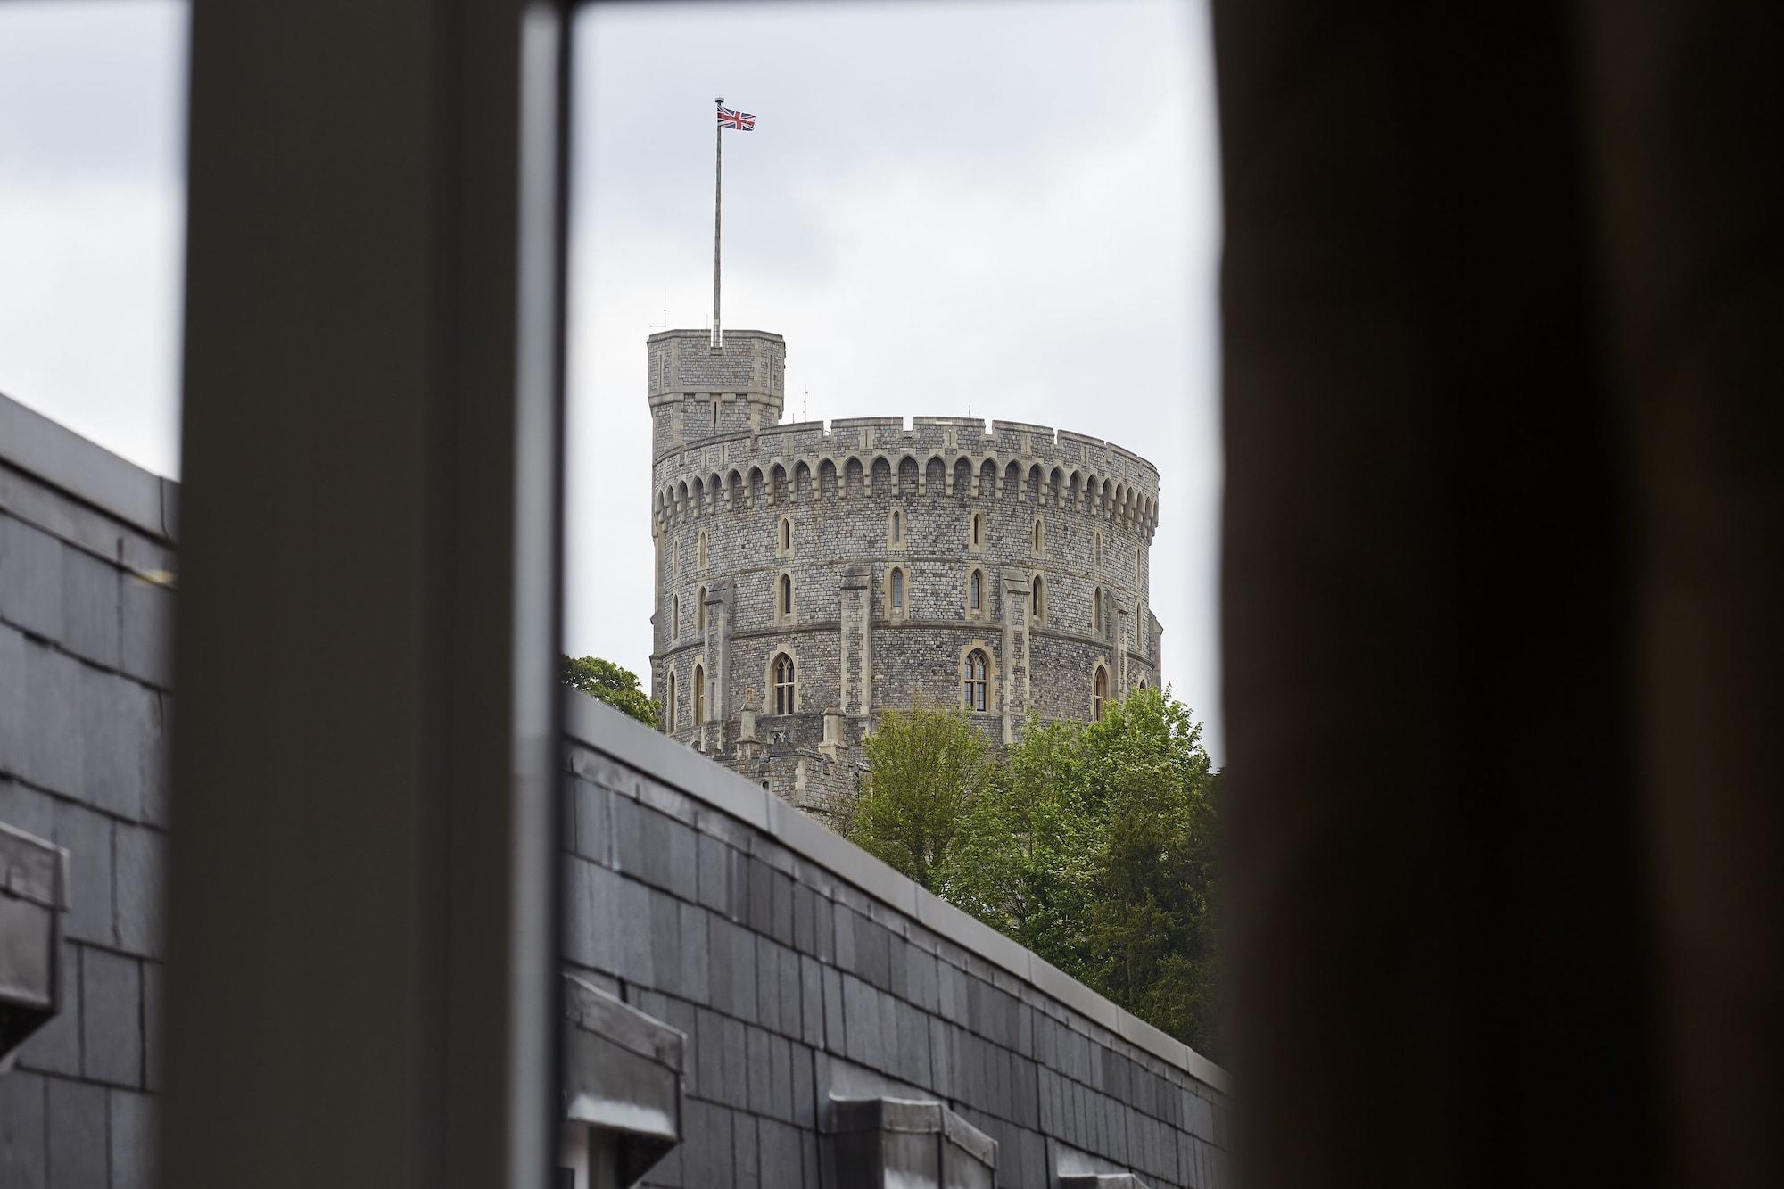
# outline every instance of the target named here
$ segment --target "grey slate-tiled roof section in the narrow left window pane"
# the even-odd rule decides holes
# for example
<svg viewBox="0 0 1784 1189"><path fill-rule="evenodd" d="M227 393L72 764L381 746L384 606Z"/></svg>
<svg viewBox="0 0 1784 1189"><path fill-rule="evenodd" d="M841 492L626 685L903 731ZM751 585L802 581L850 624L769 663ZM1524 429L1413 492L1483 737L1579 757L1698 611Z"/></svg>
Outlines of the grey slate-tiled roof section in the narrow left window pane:
<svg viewBox="0 0 1784 1189"><path fill-rule="evenodd" d="M71 875L61 1014L0 1075L5 1189L152 1184L173 570L164 534L0 452L0 821Z"/></svg>

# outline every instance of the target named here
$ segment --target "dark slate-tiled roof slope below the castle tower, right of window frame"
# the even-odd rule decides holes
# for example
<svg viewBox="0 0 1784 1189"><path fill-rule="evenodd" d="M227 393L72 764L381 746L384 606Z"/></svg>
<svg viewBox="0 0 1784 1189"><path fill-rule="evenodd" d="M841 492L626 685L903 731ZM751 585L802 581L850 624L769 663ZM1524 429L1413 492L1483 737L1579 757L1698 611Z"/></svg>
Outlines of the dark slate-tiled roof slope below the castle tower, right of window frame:
<svg viewBox="0 0 1784 1189"><path fill-rule="evenodd" d="M646 1184L817 1189L831 1093L946 1100L999 1141L999 1185L1061 1162L1227 1184L1217 1089L690 794L701 773L756 791L681 757L573 737L566 773L566 959L689 1037L685 1141Z"/></svg>

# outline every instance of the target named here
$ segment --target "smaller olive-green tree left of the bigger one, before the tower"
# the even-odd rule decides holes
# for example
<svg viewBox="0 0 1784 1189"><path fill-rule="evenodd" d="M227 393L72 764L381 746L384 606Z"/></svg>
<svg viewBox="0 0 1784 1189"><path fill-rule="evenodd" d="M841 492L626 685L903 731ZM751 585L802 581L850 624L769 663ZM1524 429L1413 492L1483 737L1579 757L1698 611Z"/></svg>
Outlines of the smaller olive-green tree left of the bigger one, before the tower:
<svg viewBox="0 0 1784 1189"><path fill-rule="evenodd" d="M985 734L963 711L917 703L881 714L865 748L849 841L947 894L954 843L994 773Z"/></svg>

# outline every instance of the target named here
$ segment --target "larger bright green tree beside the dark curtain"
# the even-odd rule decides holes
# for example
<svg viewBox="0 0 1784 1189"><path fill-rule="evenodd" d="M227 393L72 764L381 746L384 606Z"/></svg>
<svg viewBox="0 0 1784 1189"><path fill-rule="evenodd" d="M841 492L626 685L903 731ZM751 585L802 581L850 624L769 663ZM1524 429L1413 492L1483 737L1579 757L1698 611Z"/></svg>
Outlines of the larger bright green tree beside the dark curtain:
<svg viewBox="0 0 1784 1189"><path fill-rule="evenodd" d="M1136 691L1097 723L1029 719L970 802L944 894L1215 1055L1215 809L1188 707Z"/></svg>

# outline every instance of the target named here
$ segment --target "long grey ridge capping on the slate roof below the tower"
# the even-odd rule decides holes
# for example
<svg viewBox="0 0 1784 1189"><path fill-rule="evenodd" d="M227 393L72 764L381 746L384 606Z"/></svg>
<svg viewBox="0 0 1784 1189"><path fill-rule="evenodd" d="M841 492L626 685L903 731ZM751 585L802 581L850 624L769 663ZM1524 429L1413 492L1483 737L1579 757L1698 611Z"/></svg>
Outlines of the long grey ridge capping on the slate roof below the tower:
<svg viewBox="0 0 1784 1189"><path fill-rule="evenodd" d="M838 880L853 884L963 950L978 953L1063 1007L1120 1035L1135 1048L1170 1062L1224 1094L1231 1093L1227 1071L1188 1044L1115 1007L1040 955L1024 950L990 925L924 891L855 843L833 834L730 768L715 764L673 737L574 689L564 691L564 732L585 746L607 752L655 780L769 834L781 846L824 868Z"/></svg>

